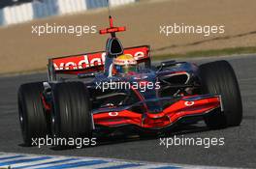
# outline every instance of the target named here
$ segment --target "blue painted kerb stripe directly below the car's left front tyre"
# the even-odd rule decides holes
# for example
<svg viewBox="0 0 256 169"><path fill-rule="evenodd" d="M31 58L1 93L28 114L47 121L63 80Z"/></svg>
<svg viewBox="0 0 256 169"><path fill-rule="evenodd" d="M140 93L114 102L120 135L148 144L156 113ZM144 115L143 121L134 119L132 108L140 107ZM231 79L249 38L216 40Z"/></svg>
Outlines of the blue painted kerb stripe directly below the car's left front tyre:
<svg viewBox="0 0 256 169"><path fill-rule="evenodd" d="M89 160L89 161L80 161L80 162L74 162L74 163L68 163L68 164L61 164L61 165L54 165L51 167L39 167L37 169L60 169L60 168L76 168L76 167L82 167L82 166L89 166L89 165L97 165L97 164L103 164L108 163L109 161L105 160Z"/></svg>

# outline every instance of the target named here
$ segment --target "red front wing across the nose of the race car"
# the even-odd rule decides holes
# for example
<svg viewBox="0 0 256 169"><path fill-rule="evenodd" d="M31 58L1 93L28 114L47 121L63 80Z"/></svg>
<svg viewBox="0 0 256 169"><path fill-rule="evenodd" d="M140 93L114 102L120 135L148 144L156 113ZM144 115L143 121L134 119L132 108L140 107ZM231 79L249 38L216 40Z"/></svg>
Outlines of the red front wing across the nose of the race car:
<svg viewBox="0 0 256 169"><path fill-rule="evenodd" d="M203 115L215 108L221 107L221 99L219 96L196 99L193 101L187 100L191 97L184 97L165 108L162 112L156 114L145 112L145 118L143 118L143 114L129 110L94 114L94 124L105 127L117 127L122 125L136 125L144 128L168 127L176 123L176 121L182 117Z"/></svg>

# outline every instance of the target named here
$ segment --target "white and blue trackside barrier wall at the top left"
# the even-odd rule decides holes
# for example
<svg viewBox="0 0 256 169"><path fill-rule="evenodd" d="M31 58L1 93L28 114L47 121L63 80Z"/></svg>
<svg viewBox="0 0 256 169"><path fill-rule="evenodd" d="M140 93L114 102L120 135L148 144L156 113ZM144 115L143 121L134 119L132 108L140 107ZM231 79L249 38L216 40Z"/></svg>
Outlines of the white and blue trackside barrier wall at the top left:
<svg viewBox="0 0 256 169"><path fill-rule="evenodd" d="M139 0L110 0L110 6L120 6ZM49 15L74 14L107 7L106 0L41 0L0 10L0 25L21 23Z"/></svg>

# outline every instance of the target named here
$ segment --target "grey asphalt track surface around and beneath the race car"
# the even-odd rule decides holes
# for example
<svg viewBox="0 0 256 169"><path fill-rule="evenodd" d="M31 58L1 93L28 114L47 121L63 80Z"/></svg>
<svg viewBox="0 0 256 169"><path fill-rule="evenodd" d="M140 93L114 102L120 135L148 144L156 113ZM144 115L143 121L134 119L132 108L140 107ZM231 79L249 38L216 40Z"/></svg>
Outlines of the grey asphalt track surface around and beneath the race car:
<svg viewBox="0 0 256 169"><path fill-rule="evenodd" d="M46 80L46 73L0 77L0 152L36 155L76 155L143 160L150 162L183 163L193 165L256 168L256 56L193 59L195 63L225 59L234 67L243 103L240 127L208 130L203 123L186 127L162 137L225 138L224 146L160 146L153 138L113 137L102 140L96 147L59 150L54 147L23 147L19 129L16 91L20 84Z"/></svg>

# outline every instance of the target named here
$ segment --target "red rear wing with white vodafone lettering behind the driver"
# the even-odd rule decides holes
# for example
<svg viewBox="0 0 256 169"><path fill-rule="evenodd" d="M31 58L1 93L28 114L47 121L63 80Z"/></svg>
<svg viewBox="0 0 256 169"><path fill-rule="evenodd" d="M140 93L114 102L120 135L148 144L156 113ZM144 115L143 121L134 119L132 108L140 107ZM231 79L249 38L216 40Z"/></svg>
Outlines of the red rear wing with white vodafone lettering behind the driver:
<svg viewBox="0 0 256 169"><path fill-rule="evenodd" d="M150 46L134 46L124 49L124 54L132 55L137 62L150 66ZM48 60L48 75L51 78L56 74L79 74L84 72L103 71L105 64L105 51L84 53L79 55L51 58Z"/></svg>

